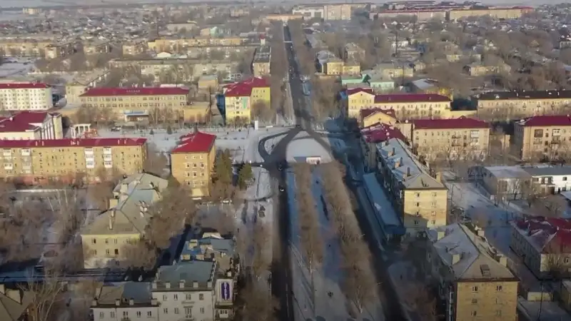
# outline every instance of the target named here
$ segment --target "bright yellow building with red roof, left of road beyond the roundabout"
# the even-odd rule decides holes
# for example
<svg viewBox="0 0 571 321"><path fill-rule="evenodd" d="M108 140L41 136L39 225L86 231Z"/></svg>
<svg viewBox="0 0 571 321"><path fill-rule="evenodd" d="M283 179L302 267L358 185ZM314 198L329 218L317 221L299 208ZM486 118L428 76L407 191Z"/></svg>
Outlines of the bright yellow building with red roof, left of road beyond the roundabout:
<svg viewBox="0 0 571 321"><path fill-rule="evenodd" d="M270 106L270 84L264 78L253 77L226 86L224 91L226 122L249 123L251 108L256 103Z"/></svg>

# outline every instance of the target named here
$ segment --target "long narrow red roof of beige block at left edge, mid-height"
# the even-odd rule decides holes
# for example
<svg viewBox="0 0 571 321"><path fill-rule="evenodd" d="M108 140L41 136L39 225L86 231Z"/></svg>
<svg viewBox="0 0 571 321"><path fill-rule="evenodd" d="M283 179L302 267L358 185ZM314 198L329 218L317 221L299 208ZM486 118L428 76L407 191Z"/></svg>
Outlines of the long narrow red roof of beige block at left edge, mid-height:
<svg viewBox="0 0 571 321"><path fill-rule="evenodd" d="M29 141L0 140L0 148L142 146L146 141L147 138L64 138Z"/></svg>

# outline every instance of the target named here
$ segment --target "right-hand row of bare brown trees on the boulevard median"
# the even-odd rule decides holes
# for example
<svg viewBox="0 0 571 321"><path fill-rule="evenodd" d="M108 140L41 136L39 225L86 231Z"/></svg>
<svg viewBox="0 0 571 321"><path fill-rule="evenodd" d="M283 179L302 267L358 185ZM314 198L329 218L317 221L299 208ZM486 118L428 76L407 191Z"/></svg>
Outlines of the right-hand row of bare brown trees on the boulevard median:
<svg viewBox="0 0 571 321"><path fill-rule="evenodd" d="M378 282L370 267L370 251L363 241L348 190L343 182L343 165L337 162L326 163L320 165L319 169L325 203L333 218L333 228L338 235L340 251L344 258L343 290L358 311L363 312L363 308L378 297Z"/></svg>

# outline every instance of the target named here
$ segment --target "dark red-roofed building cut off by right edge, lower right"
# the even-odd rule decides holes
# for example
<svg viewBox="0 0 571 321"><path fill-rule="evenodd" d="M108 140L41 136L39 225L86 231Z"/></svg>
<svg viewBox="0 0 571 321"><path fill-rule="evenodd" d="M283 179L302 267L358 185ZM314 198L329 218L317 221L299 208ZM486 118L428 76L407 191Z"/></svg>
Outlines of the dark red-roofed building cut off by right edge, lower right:
<svg viewBox="0 0 571 321"><path fill-rule="evenodd" d="M510 225L510 248L536 277L550 279L554 272L569 277L571 220L536 216L517 218Z"/></svg>

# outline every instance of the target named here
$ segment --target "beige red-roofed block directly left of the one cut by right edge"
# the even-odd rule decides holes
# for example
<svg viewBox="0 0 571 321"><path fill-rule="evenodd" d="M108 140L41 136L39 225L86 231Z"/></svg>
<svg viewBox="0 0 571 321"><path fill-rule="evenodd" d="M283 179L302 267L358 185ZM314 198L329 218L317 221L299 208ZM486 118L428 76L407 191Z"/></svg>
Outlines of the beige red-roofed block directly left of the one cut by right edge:
<svg viewBox="0 0 571 321"><path fill-rule="evenodd" d="M413 121L413 149L433 161L477 159L487 156L490 124L473 118L422 119Z"/></svg>

